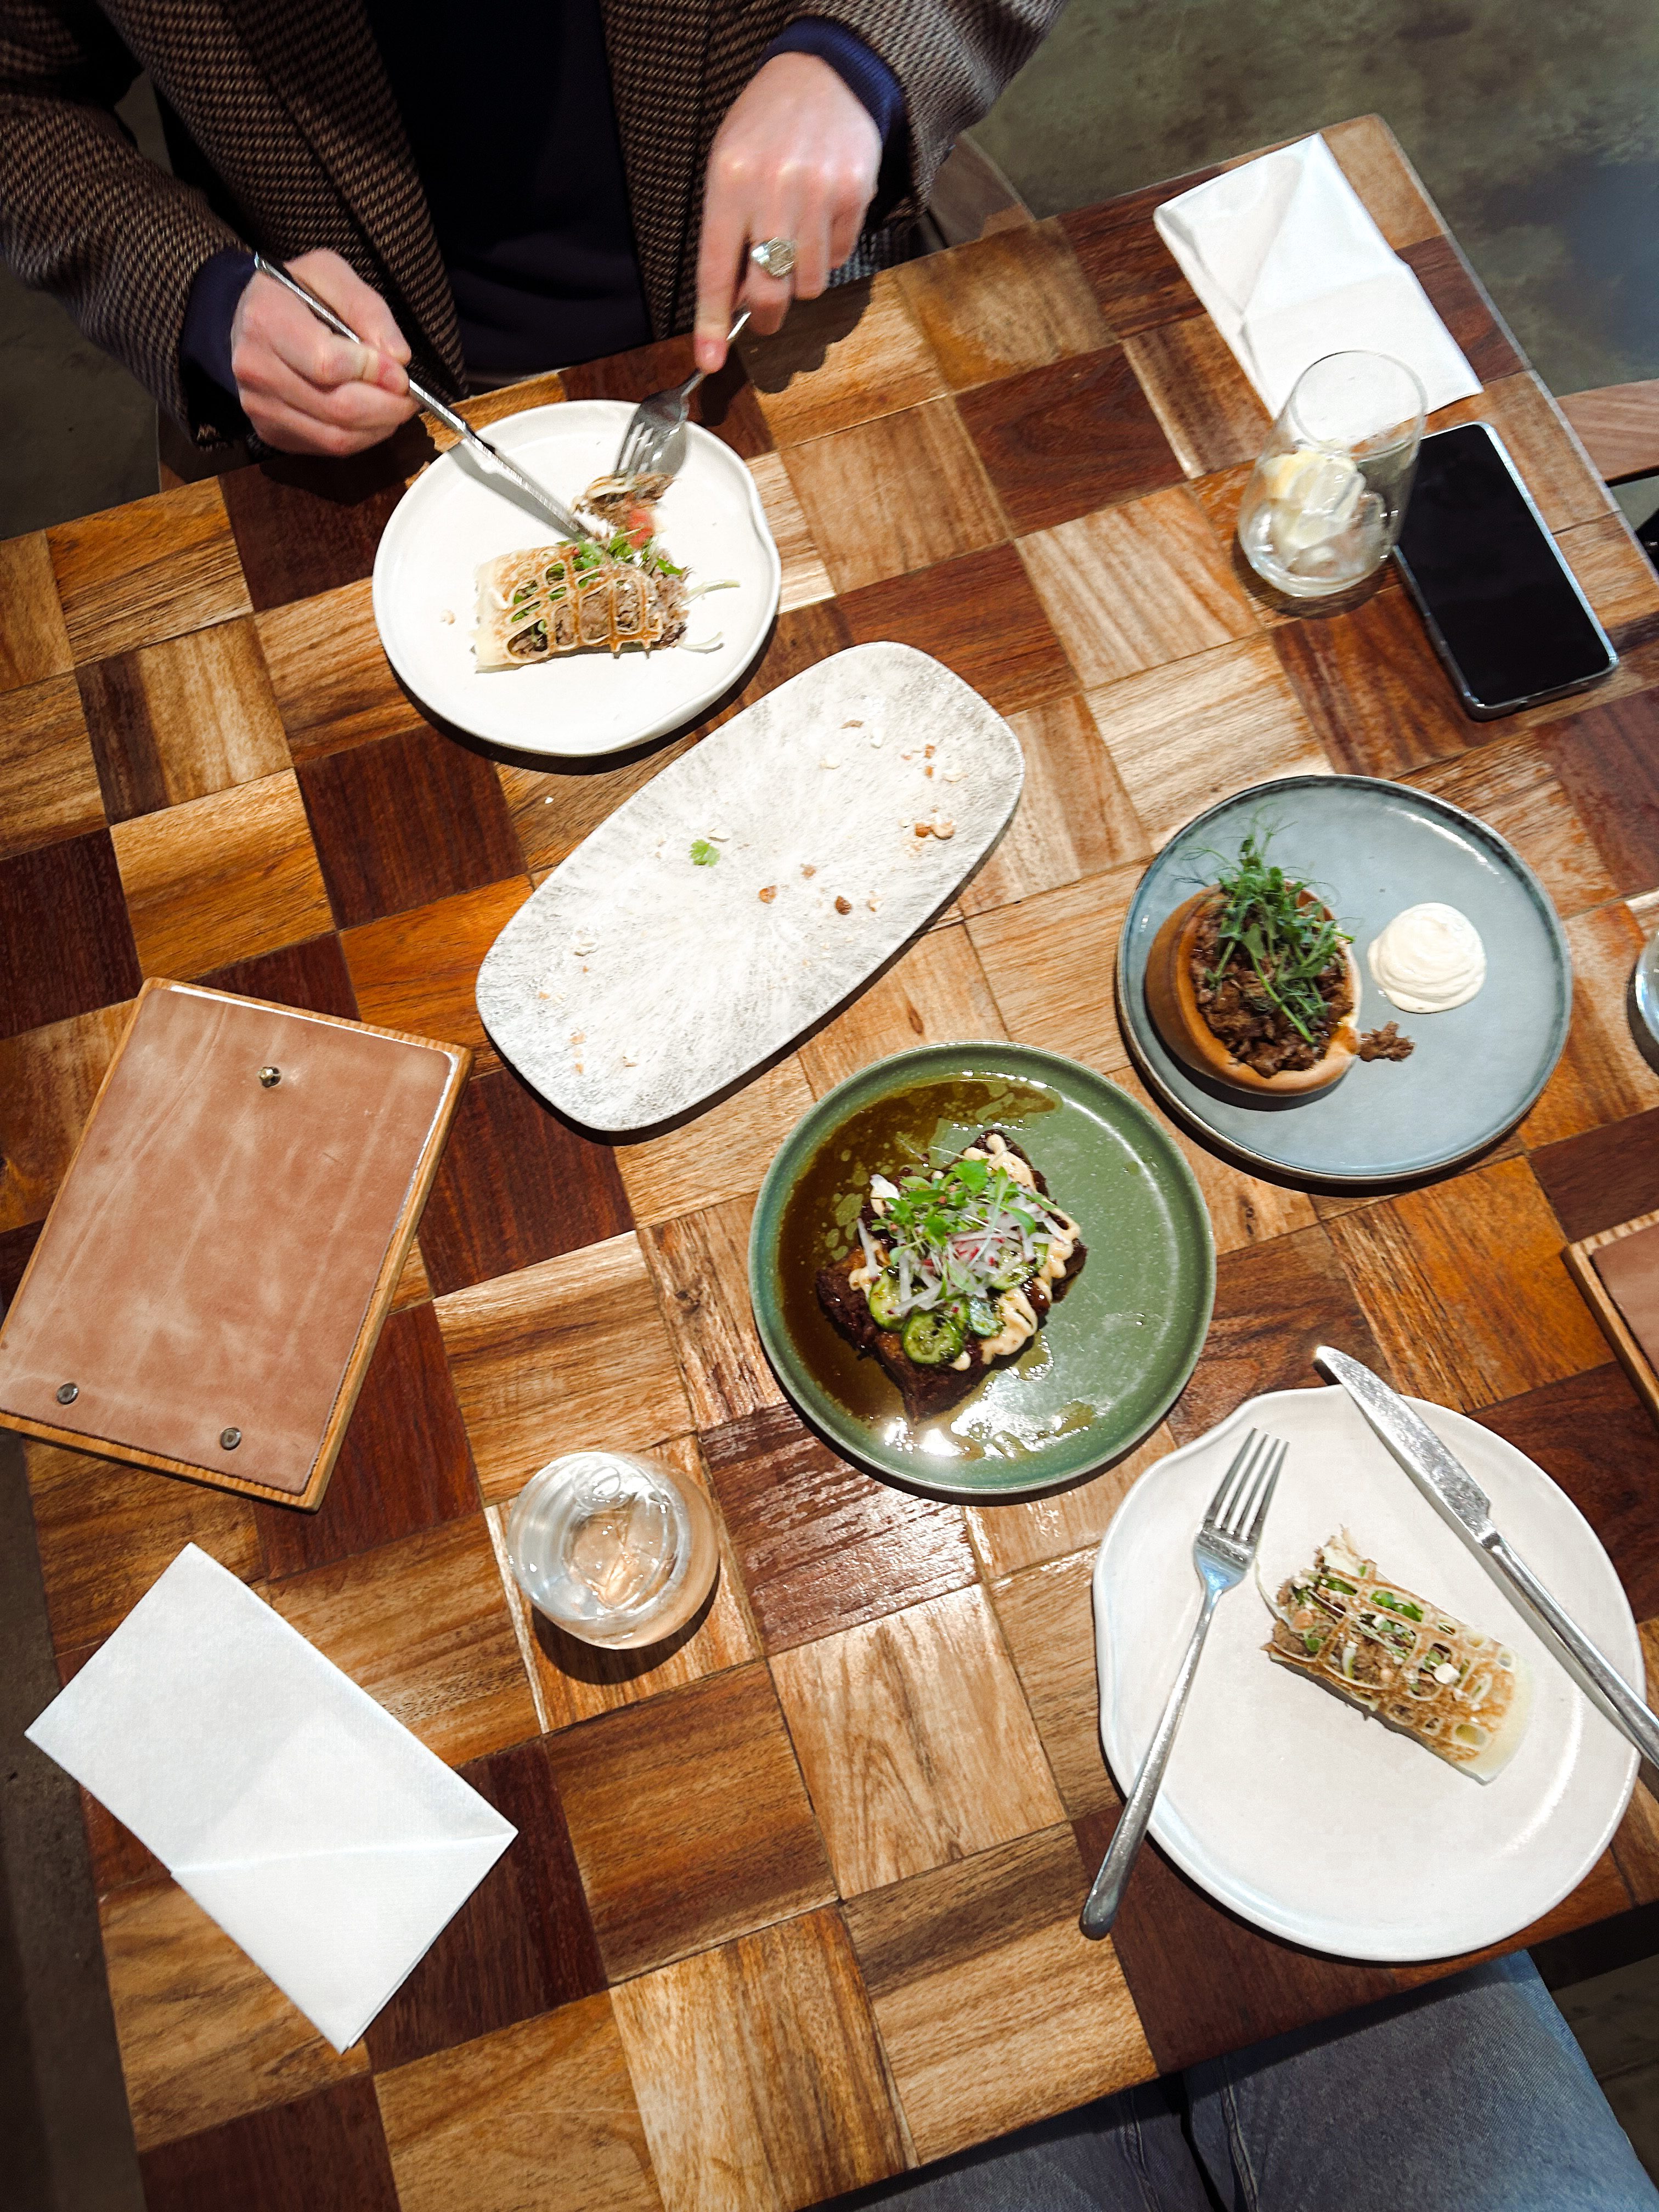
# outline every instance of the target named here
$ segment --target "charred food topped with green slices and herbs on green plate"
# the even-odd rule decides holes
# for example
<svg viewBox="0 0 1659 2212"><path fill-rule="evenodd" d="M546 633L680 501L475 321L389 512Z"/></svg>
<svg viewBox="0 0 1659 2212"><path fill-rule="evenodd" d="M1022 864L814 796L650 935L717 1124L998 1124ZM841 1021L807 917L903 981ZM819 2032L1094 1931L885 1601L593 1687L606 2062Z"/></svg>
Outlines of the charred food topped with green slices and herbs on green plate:
<svg viewBox="0 0 1659 2212"><path fill-rule="evenodd" d="M995 1128L945 1168L872 1175L856 1230L858 1250L818 1270L818 1305L880 1360L911 1422L1020 1358L1086 1259L1077 1223Z"/></svg>

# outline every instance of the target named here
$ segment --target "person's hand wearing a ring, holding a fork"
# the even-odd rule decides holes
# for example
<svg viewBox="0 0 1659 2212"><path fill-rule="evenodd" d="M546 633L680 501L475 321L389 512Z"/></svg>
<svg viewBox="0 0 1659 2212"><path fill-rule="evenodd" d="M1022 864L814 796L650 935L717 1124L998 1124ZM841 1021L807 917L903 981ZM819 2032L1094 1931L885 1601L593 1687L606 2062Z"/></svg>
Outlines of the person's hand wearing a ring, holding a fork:
<svg viewBox="0 0 1659 2212"><path fill-rule="evenodd" d="M816 299L858 241L880 173L880 133L816 53L774 53L732 102L708 155L697 259L697 367L719 369L737 307L776 330L790 296ZM792 276L768 276L750 246L794 239ZM741 285L739 285L741 276Z"/></svg>

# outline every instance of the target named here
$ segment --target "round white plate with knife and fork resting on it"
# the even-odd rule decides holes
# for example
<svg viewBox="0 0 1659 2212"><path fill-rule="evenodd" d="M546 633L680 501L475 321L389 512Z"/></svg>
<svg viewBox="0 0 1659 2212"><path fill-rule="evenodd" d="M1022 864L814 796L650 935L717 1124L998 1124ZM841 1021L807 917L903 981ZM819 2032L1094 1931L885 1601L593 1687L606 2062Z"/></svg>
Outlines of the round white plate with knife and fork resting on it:
<svg viewBox="0 0 1659 2212"><path fill-rule="evenodd" d="M1411 1400L1491 1498L1498 1526L1626 1681L1641 1639L1613 1562L1551 1478L1500 1436ZM1471 1781L1356 1705L1274 1666L1254 1582L1221 1599L1152 1812L1168 1856L1272 1936L1340 1958L1449 1958L1502 1942L1577 1887L1624 1816L1637 1754L1584 1699L1504 1588L1440 1520L1340 1389L1241 1405L1150 1467L1095 1564L1099 1730L1124 1792L1199 1613L1192 1537L1245 1429L1290 1442L1261 1537L1276 1590L1336 1528L1383 1573L1517 1646L1533 1670L1522 1747Z"/></svg>

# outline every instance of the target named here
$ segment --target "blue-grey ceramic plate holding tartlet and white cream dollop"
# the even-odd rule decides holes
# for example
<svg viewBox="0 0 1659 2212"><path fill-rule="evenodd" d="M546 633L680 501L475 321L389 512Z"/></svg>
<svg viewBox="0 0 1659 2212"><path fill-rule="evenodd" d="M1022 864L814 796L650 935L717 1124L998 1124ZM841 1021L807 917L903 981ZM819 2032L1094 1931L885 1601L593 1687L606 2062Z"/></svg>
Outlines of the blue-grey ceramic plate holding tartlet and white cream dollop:
<svg viewBox="0 0 1659 2212"><path fill-rule="evenodd" d="M1356 1064L1301 1099L1256 1099L1166 1051L1146 1011L1152 938L1252 827L1274 827L1272 858L1321 887L1354 938L1360 1029L1398 1022L1416 1042L1409 1060ZM1365 951L1429 898L1475 925L1486 982L1449 1013L1400 1013ZM1141 876L1117 953L1117 1013L1148 1091L1232 1159L1296 1183L1378 1188L1455 1168L1520 1121L1566 1044L1573 960L1537 876L1473 814L1371 776L1283 776L1199 814Z"/></svg>

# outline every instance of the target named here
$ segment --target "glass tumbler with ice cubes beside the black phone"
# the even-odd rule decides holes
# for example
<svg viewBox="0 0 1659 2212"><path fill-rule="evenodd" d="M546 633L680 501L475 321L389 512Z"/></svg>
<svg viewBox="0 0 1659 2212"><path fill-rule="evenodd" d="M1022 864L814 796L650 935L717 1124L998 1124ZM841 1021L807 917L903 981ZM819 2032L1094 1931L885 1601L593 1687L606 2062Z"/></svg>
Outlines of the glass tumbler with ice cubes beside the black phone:
<svg viewBox="0 0 1659 2212"><path fill-rule="evenodd" d="M1422 385L1387 354L1325 354L1285 400L1239 509L1256 575L1325 599L1394 551L1422 442Z"/></svg>

